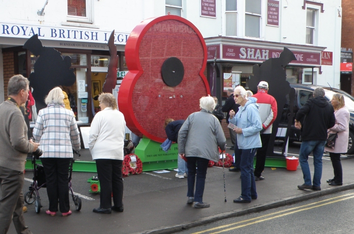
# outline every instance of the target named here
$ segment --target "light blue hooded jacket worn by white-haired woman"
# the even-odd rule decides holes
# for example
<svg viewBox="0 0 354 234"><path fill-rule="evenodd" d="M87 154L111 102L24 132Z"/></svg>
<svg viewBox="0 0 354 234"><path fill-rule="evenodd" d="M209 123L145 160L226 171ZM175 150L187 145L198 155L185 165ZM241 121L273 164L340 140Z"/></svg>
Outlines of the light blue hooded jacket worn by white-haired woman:
<svg viewBox="0 0 354 234"><path fill-rule="evenodd" d="M242 134L237 134L237 145L241 150L261 148L259 132L262 130L257 99L249 97L245 106L240 106L234 118L229 119L231 124L242 128Z"/></svg>

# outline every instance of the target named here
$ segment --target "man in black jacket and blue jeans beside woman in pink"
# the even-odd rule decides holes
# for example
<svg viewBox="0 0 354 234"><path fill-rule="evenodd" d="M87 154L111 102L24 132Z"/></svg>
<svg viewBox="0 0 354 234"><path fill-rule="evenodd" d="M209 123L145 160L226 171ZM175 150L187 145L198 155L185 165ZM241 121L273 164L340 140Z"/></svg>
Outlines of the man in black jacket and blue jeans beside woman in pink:
<svg viewBox="0 0 354 234"><path fill-rule="evenodd" d="M299 161L305 181L303 185L298 185L299 189L321 190L322 155L327 140L327 129L332 128L335 122L334 109L325 98L325 90L317 87L313 92L313 98L301 107L295 118L295 127L302 128ZM311 152L314 166L312 185L307 162Z"/></svg>

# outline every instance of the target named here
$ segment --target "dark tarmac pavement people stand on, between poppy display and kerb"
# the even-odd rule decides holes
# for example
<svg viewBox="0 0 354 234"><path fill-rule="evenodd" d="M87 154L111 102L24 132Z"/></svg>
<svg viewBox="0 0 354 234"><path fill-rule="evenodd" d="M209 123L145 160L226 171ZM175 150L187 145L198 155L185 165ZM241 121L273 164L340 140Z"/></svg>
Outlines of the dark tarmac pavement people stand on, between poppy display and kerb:
<svg viewBox="0 0 354 234"><path fill-rule="evenodd" d="M231 145L228 142L228 145ZM279 147L278 147L279 148ZM298 154L300 144L293 144L289 153ZM275 148L275 151L279 149ZM90 159L88 150L81 150L79 160ZM229 149L226 153L232 154ZM290 155L291 156L291 155ZM353 156L354 157L354 156ZM86 182L95 173L74 172L73 189L82 199L81 211L75 211L68 217L55 217L45 214L48 200L45 189L40 190L42 211L35 213L34 204L27 206L24 214L25 222L33 233L173 233L203 225L213 221L246 215L273 209L287 204L311 199L354 188L354 159L342 157L343 185L329 186L326 180L333 178L333 168L329 157L323 158L321 191L300 190L297 185L304 183L300 166L296 171L286 168L266 167L262 173L263 181L256 181L258 198L251 203L233 203L233 199L241 194L240 172L225 169L226 198L224 201L224 183L222 167L210 167L206 175L203 201L211 204L210 208L195 209L187 204L187 179L179 179L176 171L168 173L143 172L124 178L124 212L112 214L96 214L93 208L99 207L99 194L88 193L90 184ZM312 158L309 158L313 173ZM27 181L23 191L28 191L31 182L31 171L25 174ZM71 198L70 198L71 199ZM11 225L8 233L15 233Z"/></svg>

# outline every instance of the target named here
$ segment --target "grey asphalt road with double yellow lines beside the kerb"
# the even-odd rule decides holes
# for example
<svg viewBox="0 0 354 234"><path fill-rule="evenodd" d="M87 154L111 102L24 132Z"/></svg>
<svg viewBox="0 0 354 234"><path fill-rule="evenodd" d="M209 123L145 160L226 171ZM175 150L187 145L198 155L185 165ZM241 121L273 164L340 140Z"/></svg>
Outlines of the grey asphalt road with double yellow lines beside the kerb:
<svg viewBox="0 0 354 234"><path fill-rule="evenodd" d="M181 231L211 233L354 233L354 191L344 191L277 209L224 219Z"/></svg>

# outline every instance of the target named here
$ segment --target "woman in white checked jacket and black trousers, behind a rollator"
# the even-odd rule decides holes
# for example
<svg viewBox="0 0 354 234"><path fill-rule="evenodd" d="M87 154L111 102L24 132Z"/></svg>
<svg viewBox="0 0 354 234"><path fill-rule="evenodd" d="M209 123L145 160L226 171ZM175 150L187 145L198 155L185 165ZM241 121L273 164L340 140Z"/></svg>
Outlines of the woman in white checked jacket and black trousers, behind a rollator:
<svg viewBox="0 0 354 234"><path fill-rule="evenodd" d="M52 89L45 103L47 107L38 112L33 137L43 151L40 157L47 184L49 210L55 216L59 210L63 216L71 215L69 204L69 164L73 149L80 150L80 133L74 113L65 109L64 95L60 87Z"/></svg>

